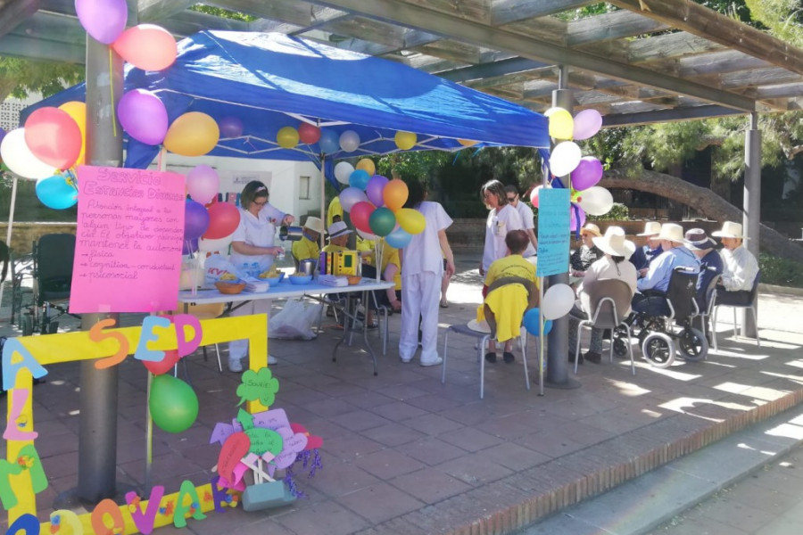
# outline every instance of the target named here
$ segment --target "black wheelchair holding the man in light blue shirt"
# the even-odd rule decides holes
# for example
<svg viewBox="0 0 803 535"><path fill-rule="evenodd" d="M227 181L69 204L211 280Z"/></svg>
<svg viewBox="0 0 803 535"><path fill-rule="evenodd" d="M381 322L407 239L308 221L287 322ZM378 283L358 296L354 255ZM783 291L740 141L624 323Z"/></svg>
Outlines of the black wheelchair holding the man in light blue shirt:
<svg viewBox="0 0 803 535"><path fill-rule="evenodd" d="M692 326L694 317L700 315L697 300L698 273L687 268L675 268L669 279L667 292L646 291L648 310L638 312L628 320L633 325L633 333L639 340L644 358L652 366L665 368L675 362L675 351L687 361L699 361L708 356L708 339L699 329ZM627 354L627 336L619 327L613 335L614 352L619 356Z"/></svg>

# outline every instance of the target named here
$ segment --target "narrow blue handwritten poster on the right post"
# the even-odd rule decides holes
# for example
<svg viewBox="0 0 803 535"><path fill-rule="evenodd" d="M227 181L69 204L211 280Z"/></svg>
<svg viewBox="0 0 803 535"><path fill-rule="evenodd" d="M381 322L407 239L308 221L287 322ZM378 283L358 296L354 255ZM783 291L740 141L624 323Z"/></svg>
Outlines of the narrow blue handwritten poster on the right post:
<svg viewBox="0 0 803 535"><path fill-rule="evenodd" d="M567 188L542 188L538 193L537 276L568 272L571 213Z"/></svg>

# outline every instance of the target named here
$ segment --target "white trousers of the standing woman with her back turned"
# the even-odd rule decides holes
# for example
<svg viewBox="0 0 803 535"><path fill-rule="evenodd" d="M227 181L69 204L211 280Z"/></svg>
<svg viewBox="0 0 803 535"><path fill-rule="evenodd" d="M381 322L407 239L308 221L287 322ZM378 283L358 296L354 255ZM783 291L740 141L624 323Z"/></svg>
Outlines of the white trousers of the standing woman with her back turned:
<svg viewBox="0 0 803 535"><path fill-rule="evenodd" d="M438 303L442 276L432 272L402 279L402 335L399 356L410 360L418 349L418 319L421 319L421 362L438 358Z"/></svg>

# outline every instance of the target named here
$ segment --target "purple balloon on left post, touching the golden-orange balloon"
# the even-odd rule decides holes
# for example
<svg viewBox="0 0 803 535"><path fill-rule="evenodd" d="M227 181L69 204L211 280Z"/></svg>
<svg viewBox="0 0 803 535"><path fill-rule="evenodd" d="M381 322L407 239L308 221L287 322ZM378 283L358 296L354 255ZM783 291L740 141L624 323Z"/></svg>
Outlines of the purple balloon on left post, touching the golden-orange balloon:
<svg viewBox="0 0 803 535"><path fill-rule="evenodd" d="M117 116L128 136L144 144L161 144L168 131L164 103L155 93L132 89L120 98Z"/></svg>

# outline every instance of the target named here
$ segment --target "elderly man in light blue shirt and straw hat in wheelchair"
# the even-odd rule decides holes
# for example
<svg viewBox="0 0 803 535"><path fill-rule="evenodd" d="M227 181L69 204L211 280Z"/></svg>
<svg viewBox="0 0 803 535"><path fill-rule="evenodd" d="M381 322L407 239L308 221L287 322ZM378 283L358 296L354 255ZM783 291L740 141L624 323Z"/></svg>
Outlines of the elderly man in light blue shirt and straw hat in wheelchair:
<svg viewBox="0 0 803 535"><path fill-rule="evenodd" d="M667 316L666 291L669 279L675 268L689 268L700 272L700 261L686 249L683 237L683 226L666 223L658 234L661 249L658 258L650 262L647 273L638 280L636 288L640 293L633 296L633 311L647 313L650 316Z"/></svg>

